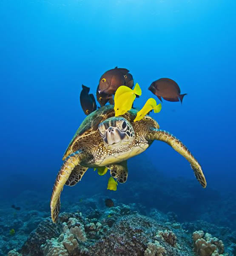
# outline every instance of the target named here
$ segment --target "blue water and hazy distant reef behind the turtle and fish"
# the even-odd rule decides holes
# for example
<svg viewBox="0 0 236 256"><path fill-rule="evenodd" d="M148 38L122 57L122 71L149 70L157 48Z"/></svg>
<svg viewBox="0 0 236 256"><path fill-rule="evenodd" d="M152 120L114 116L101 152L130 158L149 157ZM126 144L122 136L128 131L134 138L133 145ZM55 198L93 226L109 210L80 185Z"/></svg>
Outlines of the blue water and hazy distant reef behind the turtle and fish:
<svg viewBox="0 0 236 256"><path fill-rule="evenodd" d="M96 98L100 77L116 66L142 88L137 108L150 97L159 102L148 87L162 77L187 93L182 104L164 100L150 115L190 149L208 186L155 141L128 160L128 180L117 191L107 190L108 174L88 169L64 188L61 212L102 211L112 198L143 216L175 216L186 230L186 223L201 223L204 232L214 225L212 235L230 235L226 253L236 255L235 9L233 0L0 0L0 255L19 250L50 216L63 153L86 117L81 84Z"/></svg>

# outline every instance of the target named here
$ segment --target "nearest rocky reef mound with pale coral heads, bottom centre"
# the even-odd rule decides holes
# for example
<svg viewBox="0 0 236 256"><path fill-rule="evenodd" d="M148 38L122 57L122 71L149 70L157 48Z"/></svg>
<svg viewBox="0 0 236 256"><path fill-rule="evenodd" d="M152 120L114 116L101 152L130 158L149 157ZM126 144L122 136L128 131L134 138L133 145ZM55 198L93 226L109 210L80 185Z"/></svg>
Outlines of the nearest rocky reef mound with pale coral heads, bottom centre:
<svg viewBox="0 0 236 256"><path fill-rule="evenodd" d="M176 236L165 224L132 212L128 206L111 207L100 215L99 219L90 219L81 213L62 213L57 224L46 218L31 233L20 253L24 256L136 256L144 253L186 256L192 253L191 247L182 250L175 247ZM48 228L51 225L57 226L57 233ZM182 244L191 239L183 230L179 230L179 238Z"/></svg>

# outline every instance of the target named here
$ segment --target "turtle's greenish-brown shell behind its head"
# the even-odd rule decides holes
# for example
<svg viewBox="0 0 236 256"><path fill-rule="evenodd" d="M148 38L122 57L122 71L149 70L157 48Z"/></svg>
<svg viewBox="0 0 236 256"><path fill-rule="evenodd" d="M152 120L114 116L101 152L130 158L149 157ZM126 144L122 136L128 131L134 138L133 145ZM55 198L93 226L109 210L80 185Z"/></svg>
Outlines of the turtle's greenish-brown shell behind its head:
<svg viewBox="0 0 236 256"><path fill-rule="evenodd" d="M122 116L129 122L133 122L136 117L136 114L137 111L132 108ZM74 137L72 138L70 144L68 145L63 155L63 160L65 160L68 148L70 147L71 143L74 141L76 137L79 136L82 138L87 137L88 135L95 134L98 129L98 125L112 116L115 116L114 105L103 106L97 109L96 111L92 112L88 116L86 116L86 118L83 120L82 124L78 128L77 132L74 134Z"/></svg>

